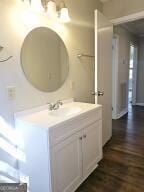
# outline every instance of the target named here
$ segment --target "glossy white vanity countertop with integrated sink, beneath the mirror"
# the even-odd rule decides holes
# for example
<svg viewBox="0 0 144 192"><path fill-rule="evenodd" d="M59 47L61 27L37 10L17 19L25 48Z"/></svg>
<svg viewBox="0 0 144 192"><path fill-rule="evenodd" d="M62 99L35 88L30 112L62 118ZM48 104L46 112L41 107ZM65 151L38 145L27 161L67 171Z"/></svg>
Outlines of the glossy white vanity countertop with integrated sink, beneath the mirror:
<svg viewBox="0 0 144 192"><path fill-rule="evenodd" d="M15 119L37 126L51 128L61 123L67 122L73 118L80 117L83 114L92 110L96 110L100 107L101 105L97 104L69 102L60 106L58 110L50 111L48 109L48 105L44 105L16 113ZM68 114L67 109L71 109L70 112L68 111Z"/></svg>

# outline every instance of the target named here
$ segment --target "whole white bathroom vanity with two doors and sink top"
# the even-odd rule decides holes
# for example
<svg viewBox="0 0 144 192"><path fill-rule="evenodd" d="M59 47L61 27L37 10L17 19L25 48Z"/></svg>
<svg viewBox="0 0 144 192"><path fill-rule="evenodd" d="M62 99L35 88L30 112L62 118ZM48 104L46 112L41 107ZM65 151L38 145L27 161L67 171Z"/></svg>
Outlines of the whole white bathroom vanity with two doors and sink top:
<svg viewBox="0 0 144 192"><path fill-rule="evenodd" d="M30 192L73 192L102 159L100 105L68 102L15 115L26 160L19 169L29 176Z"/></svg>

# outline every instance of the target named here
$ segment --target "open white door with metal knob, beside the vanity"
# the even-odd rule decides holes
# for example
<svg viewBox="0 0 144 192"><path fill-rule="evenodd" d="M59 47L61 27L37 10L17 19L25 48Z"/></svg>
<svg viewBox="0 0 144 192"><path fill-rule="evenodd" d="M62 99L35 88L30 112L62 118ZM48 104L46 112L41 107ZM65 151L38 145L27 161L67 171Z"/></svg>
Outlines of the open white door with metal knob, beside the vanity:
<svg viewBox="0 0 144 192"><path fill-rule="evenodd" d="M95 103L102 105L102 143L112 136L112 37L113 25L95 11ZM104 92L97 96L98 91Z"/></svg>

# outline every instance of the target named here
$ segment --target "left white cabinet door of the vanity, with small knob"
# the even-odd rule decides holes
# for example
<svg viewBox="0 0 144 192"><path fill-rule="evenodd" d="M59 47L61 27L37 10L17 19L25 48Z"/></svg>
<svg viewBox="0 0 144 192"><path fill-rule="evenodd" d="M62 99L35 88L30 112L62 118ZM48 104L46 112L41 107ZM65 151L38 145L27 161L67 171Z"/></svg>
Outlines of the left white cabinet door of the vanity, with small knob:
<svg viewBox="0 0 144 192"><path fill-rule="evenodd" d="M51 151L52 192L72 192L82 180L82 132L57 144Z"/></svg>

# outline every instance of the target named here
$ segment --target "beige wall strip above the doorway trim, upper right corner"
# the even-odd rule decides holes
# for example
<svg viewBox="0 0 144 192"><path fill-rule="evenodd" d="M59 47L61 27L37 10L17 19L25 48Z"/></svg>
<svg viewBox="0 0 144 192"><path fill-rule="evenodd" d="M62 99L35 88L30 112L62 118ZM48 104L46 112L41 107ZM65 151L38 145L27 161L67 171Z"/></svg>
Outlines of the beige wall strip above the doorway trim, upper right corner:
<svg viewBox="0 0 144 192"><path fill-rule="evenodd" d="M103 4L103 13L109 19L116 19L144 11L143 0L110 0Z"/></svg>

